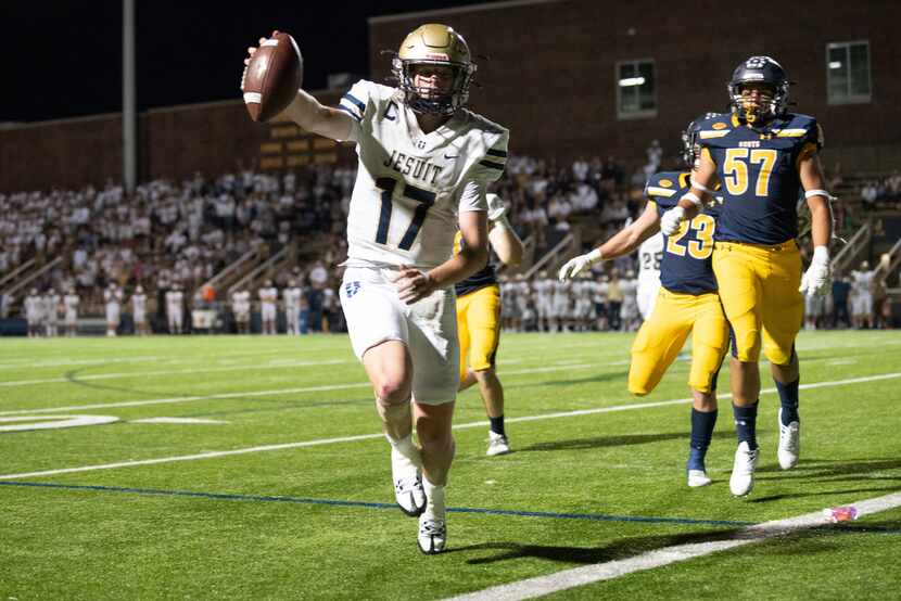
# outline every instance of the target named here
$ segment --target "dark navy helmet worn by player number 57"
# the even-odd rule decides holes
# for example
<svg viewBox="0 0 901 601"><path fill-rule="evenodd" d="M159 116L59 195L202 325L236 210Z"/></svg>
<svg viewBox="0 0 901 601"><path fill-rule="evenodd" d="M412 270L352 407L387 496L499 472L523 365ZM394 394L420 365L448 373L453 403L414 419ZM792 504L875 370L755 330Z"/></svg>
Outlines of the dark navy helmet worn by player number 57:
<svg viewBox="0 0 901 601"><path fill-rule="evenodd" d="M741 95L747 86L765 88L758 99ZM754 125L785 113L790 81L782 65L770 56L751 56L735 67L726 89L733 113L743 122Z"/></svg>

